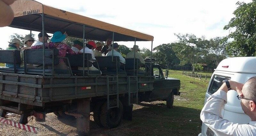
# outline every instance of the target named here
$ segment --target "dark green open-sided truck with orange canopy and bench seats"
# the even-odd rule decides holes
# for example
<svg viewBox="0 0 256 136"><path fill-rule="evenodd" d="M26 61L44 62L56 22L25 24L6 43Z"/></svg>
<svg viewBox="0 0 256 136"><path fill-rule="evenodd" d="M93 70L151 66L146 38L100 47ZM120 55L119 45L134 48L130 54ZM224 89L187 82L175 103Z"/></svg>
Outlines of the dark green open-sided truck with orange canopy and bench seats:
<svg viewBox="0 0 256 136"><path fill-rule="evenodd" d="M108 24L89 17L56 9L33 0L16 0L12 5L14 19L10 25L31 31L54 33L66 31L69 36L86 40L151 41L153 36ZM83 45L84 46L84 45ZM173 95L180 95L180 80L168 78L161 66L148 60L119 57L95 57L91 54L58 57L58 49L29 49L24 51L24 68L20 65L20 51L0 50L0 63L12 63L14 68L0 67L0 122L33 133L37 128L25 125L28 117L45 121L45 114L54 112L59 117L76 117L77 133L90 134L90 112L94 121L106 128L120 124L121 119L132 119L132 106L140 101L166 100L173 105ZM65 59L69 71L55 69L59 59ZM93 65L100 71L85 70ZM43 69L29 69L27 64L43 65ZM52 69L45 68L52 65ZM72 67L83 67L83 70ZM144 70L141 72L141 70ZM102 74L101 74L102 72ZM20 114L20 121L6 119L6 113Z"/></svg>

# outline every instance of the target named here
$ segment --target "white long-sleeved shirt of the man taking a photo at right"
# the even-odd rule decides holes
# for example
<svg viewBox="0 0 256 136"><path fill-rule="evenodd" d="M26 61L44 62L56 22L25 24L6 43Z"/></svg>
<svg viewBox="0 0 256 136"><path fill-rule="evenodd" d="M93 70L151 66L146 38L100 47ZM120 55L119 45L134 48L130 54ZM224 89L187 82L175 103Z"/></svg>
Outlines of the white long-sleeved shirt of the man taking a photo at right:
<svg viewBox="0 0 256 136"><path fill-rule="evenodd" d="M256 136L256 121L238 124L223 119L221 109L227 103L227 93L217 91L207 99L200 118L217 136ZM239 117L237 117L239 118Z"/></svg>

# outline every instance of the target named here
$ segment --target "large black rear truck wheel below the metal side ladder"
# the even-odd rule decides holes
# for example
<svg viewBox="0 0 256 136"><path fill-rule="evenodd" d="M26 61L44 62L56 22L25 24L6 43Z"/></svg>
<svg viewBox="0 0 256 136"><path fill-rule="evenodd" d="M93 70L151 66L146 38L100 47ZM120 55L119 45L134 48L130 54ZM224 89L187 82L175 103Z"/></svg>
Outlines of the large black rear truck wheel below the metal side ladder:
<svg viewBox="0 0 256 136"><path fill-rule="evenodd" d="M116 106L116 99L112 99L109 101L109 106ZM100 112L100 122L101 125L106 128L114 128L117 127L122 120L123 117L123 104L119 100L119 108L111 108L108 109L107 101L102 105Z"/></svg>

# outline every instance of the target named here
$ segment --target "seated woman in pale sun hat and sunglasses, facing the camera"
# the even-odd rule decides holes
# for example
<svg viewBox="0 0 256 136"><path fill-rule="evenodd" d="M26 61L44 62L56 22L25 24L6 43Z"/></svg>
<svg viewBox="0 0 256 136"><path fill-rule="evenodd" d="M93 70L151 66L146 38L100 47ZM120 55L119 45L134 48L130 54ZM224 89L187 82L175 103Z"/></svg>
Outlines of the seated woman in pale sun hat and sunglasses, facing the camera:
<svg viewBox="0 0 256 136"><path fill-rule="evenodd" d="M30 35L26 35L24 38L24 42L25 42L24 47L30 47L35 42L35 40ZM20 67L22 68L24 67L24 50L20 51L20 61L21 61ZM27 64L27 68L35 68L35 67L31 64Z"/></svg>

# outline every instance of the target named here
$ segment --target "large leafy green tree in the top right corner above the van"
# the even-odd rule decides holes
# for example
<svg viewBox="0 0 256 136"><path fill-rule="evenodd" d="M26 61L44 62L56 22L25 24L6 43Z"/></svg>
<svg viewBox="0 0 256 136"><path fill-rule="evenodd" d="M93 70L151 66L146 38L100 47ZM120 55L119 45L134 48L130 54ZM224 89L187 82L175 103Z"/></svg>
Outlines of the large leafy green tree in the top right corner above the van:
<svg viewBox="0 0 256 136"><path fill-rule="evenodd" d="M237 9L224 30L235 28L223 41L233 39L228 43L229 56L256 56L256 0L251 3L237 2Z"/></svg>

